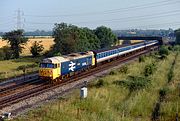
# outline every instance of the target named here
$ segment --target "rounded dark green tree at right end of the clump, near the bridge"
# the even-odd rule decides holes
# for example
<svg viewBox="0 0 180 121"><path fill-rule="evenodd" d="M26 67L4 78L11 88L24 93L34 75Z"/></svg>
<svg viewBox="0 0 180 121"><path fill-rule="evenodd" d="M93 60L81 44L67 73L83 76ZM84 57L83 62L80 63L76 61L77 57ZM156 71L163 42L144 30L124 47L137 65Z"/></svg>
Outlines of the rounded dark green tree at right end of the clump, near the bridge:
<svg viewBox="0 0 180 121"><path fill-rule="evenodd" d="M107 48L110 47L112 44L115 44L117 41L117 37L110 28L105 26L101 26L95 29L95 35L100 40L100 47Z"/></svg>

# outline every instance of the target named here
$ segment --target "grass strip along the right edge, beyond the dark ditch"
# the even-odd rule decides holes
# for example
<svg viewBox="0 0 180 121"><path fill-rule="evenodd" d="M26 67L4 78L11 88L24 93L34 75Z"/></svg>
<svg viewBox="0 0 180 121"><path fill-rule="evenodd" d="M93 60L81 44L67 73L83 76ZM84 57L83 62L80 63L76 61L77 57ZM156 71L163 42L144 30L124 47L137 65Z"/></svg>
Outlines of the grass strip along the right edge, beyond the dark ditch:
<svg viewBox="0 0 180 121"><path fill-rule="evenodd" d="M176 63L174 65L173 73L174 76L171 83L168 83L169 91L165 98L165 101L161 105L162 119L173 121L175 120L176 114L180 115L180 54L178 54Z"/></svg>

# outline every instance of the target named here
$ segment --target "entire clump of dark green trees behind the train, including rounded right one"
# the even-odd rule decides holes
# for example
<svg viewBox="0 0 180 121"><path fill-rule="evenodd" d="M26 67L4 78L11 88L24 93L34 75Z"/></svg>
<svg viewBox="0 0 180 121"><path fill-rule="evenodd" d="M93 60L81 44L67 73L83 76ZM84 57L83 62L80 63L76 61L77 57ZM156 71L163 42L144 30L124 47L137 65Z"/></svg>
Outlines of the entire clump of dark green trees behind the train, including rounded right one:
<svg viewBox="0 0 180 121"><path fill-rule="evenodd" d="M90 30L89 28L79 28L66 23L55 24L53 37L55 38L55 45L52 48L54 54L97 50L110 47L117 41L117 37L110 28L102 26Z"/></svg>

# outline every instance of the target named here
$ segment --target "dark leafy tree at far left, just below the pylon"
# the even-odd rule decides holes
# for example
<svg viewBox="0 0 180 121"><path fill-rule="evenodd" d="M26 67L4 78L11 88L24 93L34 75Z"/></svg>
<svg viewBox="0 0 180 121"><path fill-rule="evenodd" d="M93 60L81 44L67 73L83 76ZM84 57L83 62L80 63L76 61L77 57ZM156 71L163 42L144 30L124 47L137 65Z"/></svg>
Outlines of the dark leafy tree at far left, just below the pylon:
<svg viewBox="0 0 180 121"><path fill-rule="evenodd" d="M7 32L3 35L3 39L7 40L10 44L13 58L19 58L19 54L22 52L23 48L21 45L28 41L28 39L23 36L23 30Z"/></svg>

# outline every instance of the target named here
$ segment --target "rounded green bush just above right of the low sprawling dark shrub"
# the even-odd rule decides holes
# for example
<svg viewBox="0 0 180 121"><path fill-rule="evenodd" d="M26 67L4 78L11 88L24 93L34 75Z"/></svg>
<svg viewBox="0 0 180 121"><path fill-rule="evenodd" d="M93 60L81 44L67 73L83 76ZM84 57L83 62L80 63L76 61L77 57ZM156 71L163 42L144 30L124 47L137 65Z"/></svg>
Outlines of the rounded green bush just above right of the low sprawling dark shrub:
<svg viewBox="0 0 180 121"><path fill-rule="evenodd" d="M144 76L150 76L156 71L155 63L151 63L145 66L144 68Z"/></svg>

